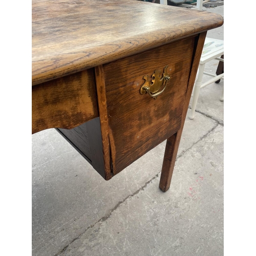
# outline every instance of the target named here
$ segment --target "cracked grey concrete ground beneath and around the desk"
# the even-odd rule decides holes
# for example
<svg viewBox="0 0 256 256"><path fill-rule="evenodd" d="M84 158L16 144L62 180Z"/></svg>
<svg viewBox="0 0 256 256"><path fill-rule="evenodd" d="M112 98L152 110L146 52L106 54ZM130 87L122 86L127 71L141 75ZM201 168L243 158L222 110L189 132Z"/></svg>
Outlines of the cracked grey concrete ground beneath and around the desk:
<svg viewBox="0 0 256 256"><path fill-rule="evenodd" d="M207 36L223 39L223 26ZM104 181L54 129L34 134L32 255L223 255L223 83L203 88L187 116L166 193L165 142Z"/></svg>

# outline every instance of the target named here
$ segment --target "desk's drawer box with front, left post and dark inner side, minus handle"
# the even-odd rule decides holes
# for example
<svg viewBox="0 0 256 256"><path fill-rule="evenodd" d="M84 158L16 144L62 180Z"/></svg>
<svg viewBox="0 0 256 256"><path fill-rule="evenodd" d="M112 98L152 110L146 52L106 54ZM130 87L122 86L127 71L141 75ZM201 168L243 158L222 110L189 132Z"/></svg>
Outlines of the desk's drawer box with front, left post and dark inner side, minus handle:
<svg viewBox="0 0 256 256"><path fill-rule="evenodd" d="M111 179L180 129L195 38L95 68L99 118L58 131L104 179ZM156 70L159 77L166 71L170 79L154 99L141 94L141 87L145 76L157 76Z"/></svg>

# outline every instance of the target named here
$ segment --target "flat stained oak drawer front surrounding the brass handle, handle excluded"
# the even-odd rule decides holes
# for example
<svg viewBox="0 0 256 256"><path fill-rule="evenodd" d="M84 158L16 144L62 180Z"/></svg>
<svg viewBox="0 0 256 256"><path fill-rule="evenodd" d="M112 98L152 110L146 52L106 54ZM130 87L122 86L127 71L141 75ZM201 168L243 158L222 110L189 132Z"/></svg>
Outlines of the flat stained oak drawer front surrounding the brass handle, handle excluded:
<svg viewBox="0 0 256 256"><path fill-rule="evenodd" d="M114 175L180 129L194 43L186 38L103 66ZM166 66L163 93L142 95L143 77Z"/></svg>

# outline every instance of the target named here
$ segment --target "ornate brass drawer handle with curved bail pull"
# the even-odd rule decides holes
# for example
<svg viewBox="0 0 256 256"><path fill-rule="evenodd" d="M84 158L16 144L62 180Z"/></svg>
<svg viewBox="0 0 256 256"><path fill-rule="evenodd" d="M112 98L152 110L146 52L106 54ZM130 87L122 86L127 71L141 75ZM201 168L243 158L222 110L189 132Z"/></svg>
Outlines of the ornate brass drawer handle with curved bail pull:
<svg viewBox="0 0 256 256"><path fill-rule="evenodd" d="M165 66L163 74L161 75L160 70L156 70L151 78L148 78L148 75L143 76L145 82L142 84L140 88L140 93L145 94L148 93L150 97L156 99L157 96L163 93L167 86L167 81L170 79L170 74L167 73L168 66ZM160 88L164 88L160 90Z"/></svg>

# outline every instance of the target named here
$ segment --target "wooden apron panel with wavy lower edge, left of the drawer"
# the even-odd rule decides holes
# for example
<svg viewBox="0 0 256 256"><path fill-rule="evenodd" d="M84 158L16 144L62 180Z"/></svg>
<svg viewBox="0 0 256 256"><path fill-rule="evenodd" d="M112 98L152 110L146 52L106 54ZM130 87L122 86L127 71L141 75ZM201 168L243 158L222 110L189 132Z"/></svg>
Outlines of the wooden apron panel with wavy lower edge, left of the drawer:
<svg viewBox="0 0 256 256"><path fill-rule="evenodd" d="M72 129L98 117L94 69L32 87L32 134L49 129Z"/></svg>

